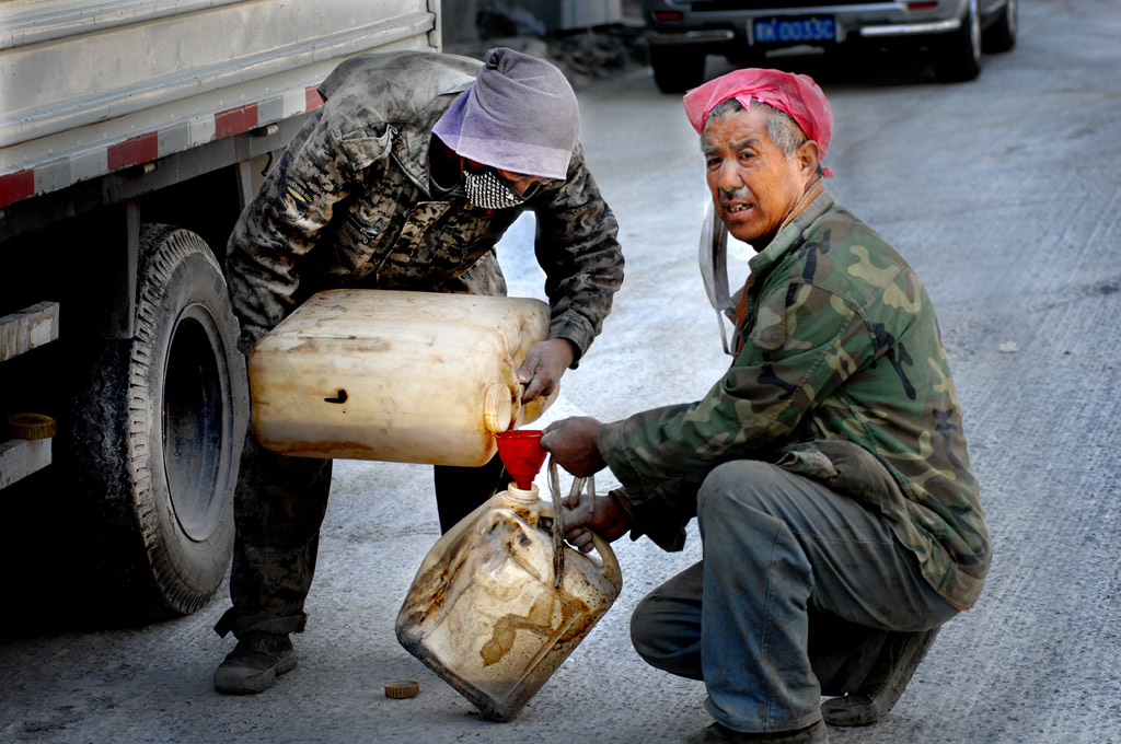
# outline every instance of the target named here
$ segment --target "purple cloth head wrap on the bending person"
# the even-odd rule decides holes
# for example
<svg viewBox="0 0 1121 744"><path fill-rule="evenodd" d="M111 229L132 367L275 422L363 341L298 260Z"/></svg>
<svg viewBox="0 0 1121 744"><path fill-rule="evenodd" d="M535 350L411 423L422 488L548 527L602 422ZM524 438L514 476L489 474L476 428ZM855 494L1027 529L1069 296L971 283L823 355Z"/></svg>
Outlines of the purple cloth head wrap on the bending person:
<svg viewBox="0 0 1121 744"><path fill-rule="evenodd" d="M549 63L498 48L433 133L457 155L492 168L563 179L580 137L576 94Z"/></svg>

